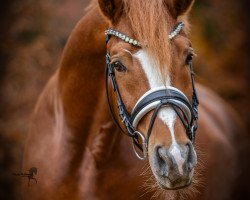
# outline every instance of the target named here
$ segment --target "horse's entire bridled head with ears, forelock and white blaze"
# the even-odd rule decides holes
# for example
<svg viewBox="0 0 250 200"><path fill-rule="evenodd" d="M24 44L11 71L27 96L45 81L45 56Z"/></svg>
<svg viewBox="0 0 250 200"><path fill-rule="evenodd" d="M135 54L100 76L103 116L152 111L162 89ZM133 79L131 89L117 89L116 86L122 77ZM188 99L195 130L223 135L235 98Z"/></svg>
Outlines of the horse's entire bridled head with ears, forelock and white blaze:
<svg viewBox="0 0 250 200"><path fill-rule="evenodd" d="M99 0L111 27L106 31L107 90L113 116L135 149L143 151L138 156L148 157L164 189L190 185L197 162L194 53L180 23L192 4Z"/></svg>

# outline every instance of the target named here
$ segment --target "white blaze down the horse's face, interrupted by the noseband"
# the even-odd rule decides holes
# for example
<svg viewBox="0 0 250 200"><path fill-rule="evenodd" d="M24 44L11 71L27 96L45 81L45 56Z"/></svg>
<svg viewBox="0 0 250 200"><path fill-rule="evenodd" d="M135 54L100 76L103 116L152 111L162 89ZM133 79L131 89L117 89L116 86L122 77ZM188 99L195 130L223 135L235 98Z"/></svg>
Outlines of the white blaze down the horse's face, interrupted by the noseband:
<svg viewBox="0 0 250 200"><path fill-rule="evenodd" d="M148 83L151 89L160 87L160 86L171 86L170 77L167 76L166 84L164 85L160 73L158 71L159 67L156 65L155 61L149 54L147 54L143 50L139 50L134 56L140 61L142 69L144 70L146 77L148 79ZM165 107L160 109L158 113L158 117L166 124L169 128L172 144L170 146L170 153L174 157L180 174L183 174L183 163L185 159L181 156L181 151L179 145L176 143L175 135L174 135L174 125L176 122L176 113L171 107Z"/></svg>

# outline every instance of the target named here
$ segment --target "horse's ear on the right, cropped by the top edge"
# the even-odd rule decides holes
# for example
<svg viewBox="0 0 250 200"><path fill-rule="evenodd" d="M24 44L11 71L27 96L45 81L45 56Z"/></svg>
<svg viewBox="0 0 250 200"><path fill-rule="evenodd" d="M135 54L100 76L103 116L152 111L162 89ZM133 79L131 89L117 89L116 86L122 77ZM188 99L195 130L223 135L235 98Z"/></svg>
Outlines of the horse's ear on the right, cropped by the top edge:
<svg viewBox="0 0 250 200"><path fill-rule="evenodd" d="M172 14L177 18L180 15L184 15L190 11L194 0L173 0L172 1Z"/></svg>

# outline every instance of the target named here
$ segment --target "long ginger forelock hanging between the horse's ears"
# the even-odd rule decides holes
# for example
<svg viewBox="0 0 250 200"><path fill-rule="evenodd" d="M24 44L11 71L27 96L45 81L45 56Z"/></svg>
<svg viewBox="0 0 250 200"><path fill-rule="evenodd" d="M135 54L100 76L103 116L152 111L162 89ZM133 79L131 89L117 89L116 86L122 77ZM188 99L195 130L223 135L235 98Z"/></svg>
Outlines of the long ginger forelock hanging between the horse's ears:
<svg viewBox="0 0 250 200"><path fill-rule="evenodd" d="M123 12L130 21L136 39L156 61L155 66L159 66L165 82L164 77L171 66L168 35L176 25L176 20L170 14L170 6L164 0L123 0L123 4Z"/></svg>

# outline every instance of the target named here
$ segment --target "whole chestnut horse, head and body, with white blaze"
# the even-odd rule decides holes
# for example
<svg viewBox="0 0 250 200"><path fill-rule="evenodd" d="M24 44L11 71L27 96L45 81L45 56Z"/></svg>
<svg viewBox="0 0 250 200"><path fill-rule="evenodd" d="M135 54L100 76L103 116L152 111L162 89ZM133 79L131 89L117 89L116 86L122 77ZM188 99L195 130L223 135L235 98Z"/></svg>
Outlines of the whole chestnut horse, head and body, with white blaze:
<svg viewBox="0 0 250 200"><path fill-rule="evenodd" d="M198 99L186 19L192 4L91 2L36 104L23 169L37 167L38 183L23 185L24 199L230 198L234 113L201 85L194 140Z"/></svg>

